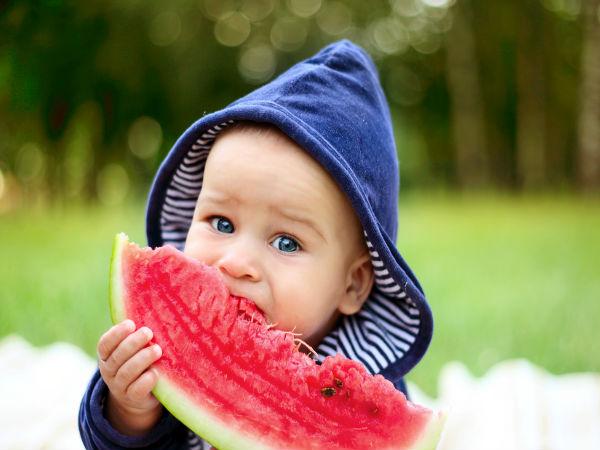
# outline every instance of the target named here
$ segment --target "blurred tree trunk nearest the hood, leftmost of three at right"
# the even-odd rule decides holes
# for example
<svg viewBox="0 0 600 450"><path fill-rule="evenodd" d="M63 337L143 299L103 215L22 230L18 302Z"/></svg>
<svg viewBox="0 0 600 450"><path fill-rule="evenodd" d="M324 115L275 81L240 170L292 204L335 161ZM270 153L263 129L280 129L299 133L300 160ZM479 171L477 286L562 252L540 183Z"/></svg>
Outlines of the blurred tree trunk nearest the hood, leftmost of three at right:
<svg viewBox="0 0 600 450"><path fill-rule="evenodd" d="M447 83L452 108L456 171L462 187L489 183L489 158L475 38L469 3L458 0L446 41Z"/></svg>

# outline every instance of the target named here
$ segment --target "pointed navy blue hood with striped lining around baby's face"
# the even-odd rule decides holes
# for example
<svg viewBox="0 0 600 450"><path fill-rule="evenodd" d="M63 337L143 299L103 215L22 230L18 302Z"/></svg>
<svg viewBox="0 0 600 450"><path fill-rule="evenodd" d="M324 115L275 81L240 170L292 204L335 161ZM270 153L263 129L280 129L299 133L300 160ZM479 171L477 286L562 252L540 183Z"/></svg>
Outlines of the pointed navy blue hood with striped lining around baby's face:
<svg viewBox="0 0 600 450"><path fill-rule="evenodd" d="M158 170L147 208L148 243L183 248L212 143L235 121L268 122L311 154L346 193L364 229L375 284L317 347L341 352L394 383L423 356L431 311L395 247L399 171L390 112L368 54L343 40L195 122Z"/></svg>

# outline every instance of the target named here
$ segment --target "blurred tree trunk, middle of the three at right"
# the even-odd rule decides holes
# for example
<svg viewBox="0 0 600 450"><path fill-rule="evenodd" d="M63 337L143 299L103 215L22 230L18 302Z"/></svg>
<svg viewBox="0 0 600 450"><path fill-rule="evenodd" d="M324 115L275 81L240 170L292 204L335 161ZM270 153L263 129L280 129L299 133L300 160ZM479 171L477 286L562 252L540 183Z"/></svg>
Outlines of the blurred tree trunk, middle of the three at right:
<svg viewBox="0 0 600 450"><path fill-rule="evenodd" d="M547 181L546 114L541 7L522 3L517 36L517 177L522 188L539 188Z"/></svg>

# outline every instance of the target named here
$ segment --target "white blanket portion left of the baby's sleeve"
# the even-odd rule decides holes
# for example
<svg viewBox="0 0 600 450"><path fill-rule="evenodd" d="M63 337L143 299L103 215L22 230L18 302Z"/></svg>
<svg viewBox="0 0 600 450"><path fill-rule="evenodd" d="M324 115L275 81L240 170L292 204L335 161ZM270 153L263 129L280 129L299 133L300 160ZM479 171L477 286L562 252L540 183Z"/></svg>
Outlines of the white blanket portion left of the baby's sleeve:
<svg viewBox="0 0 600 450"><path fill-rule="evenodd" d="M96 366L74 345L0 341L0 449L82 449L79 402Z"/></svg>

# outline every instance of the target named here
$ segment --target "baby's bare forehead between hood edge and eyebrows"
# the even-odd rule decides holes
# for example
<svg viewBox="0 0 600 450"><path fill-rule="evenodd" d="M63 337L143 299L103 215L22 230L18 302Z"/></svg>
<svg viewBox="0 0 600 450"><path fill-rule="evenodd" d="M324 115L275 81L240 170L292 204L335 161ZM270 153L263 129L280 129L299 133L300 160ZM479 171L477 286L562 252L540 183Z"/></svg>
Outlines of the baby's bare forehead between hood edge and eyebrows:
<svg viewBox="0 0 600 450"><path fill-rule="evenodd" d="M246 199L255 195L273 213L295 210L336 224L355 220L349 199L327 170L273 126L222 133L208 156L204 189Z"/></svg>

